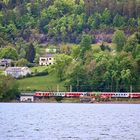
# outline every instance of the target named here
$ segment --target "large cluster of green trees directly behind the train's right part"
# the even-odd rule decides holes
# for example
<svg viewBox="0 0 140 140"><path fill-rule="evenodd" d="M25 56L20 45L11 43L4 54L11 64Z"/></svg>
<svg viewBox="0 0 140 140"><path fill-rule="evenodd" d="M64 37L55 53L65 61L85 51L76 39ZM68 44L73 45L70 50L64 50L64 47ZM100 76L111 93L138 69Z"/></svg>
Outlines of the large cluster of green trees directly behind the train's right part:
<svg viewBox="0 0 140 140"><path fill-rule="evenodd" d="M114 52L104 44L101 45L103 51L93 51L87 42L84 37L80 46L73 46L70 55L74 61L65 67L67 73L64 73L67 87L72 86L73 91L129 92L131 86L133 91L140 90L137 86L140 70L139 33L130 36L125 40L126 44ZM84 49L84 55L77 59L81 49Z"/></svg>

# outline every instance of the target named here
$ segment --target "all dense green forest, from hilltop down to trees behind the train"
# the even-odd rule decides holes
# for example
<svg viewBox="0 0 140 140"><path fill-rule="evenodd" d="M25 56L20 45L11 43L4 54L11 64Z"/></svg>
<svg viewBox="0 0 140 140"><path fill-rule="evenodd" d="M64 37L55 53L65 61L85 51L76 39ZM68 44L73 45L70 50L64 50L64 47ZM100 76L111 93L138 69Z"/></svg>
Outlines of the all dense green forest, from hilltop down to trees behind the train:
<svg viewBox="0 0 140 140"><path fill-rule="evenodd" d="M0 58L24 66L50 44L68 90L140 91L140 0L0 1Z"/></svg>

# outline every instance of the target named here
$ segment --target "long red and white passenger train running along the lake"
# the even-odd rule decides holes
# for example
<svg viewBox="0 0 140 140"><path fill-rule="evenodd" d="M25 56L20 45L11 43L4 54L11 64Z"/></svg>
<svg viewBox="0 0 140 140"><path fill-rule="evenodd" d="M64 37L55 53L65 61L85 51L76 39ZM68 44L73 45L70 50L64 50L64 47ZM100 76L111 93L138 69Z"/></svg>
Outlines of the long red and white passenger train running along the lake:
<svg viewBox="0 0 140 140"><path fill-rule="evenodd" d="M35 92L34 97L140 98L140 92Z"/></svg>

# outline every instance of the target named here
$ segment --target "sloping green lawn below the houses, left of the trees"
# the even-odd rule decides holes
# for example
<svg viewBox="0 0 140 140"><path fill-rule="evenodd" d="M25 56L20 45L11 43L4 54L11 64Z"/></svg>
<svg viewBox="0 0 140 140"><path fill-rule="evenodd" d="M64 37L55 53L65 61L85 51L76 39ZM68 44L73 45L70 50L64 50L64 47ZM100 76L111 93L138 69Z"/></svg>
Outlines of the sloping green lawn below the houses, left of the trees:
<svg viewBox="0 0 140 140"><path fill-rule="evenodd" d="M17 80L20 91L65 91L64 82L60 82L56 74L35 76Z"/></svg>

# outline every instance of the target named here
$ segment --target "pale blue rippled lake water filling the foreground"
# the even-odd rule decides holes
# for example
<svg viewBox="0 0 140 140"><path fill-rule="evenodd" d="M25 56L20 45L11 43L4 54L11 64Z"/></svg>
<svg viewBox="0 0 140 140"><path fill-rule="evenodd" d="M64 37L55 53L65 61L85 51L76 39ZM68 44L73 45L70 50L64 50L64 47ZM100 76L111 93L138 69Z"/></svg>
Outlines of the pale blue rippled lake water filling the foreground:
<svg viewBox="0 0 140 140"><path fill-rule="evenodd" d="M1 103L0 140L140 140L140 105Z"/></svg>

